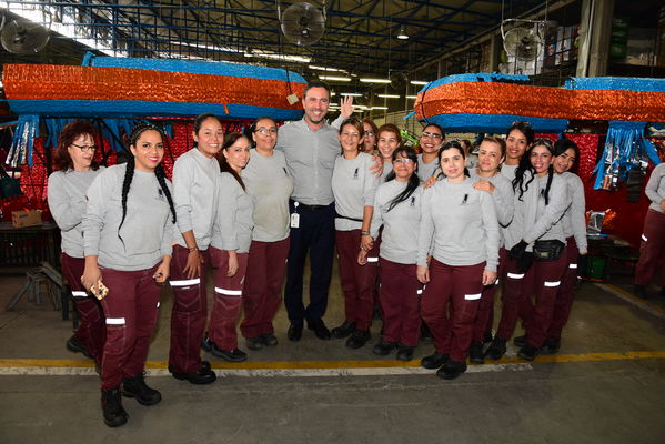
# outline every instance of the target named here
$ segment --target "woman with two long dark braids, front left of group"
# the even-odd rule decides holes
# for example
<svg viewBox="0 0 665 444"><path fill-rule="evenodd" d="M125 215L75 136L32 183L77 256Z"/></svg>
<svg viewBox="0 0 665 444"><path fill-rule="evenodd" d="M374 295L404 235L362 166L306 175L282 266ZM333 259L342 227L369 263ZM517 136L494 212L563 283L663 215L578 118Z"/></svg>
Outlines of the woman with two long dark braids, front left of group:
<svg viewBox="0 0 665 444"><path fill-rule="evenodd" d="M160 392L145 385L143 369L175 223L171 183L160 165L162 140L157 127L135 127L128 162L101 172L87 193L81 283L101 300L107 317L101 401L109 427L127 423L121 393L143 405L161 401Z"/></svg>

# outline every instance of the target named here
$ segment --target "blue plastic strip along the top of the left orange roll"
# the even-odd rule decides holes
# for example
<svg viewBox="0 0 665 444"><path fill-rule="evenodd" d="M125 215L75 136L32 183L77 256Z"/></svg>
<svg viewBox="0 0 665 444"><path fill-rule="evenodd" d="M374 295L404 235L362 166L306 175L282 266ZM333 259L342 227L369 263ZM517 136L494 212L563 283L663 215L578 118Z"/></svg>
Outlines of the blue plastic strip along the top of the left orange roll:
<svg viewBox="0 0 665 444"><path fill-rule="evenodd" d="M91 57L85 54L83 65L104 68L133 68L152 71L189 72L192 74L206 75L233 75L249 79L283 80L293 83L306 83L300 74L278 68L258 67L254 64L229 63L229 62L200 62L173 59L139 59L120 57Z"/></svg>

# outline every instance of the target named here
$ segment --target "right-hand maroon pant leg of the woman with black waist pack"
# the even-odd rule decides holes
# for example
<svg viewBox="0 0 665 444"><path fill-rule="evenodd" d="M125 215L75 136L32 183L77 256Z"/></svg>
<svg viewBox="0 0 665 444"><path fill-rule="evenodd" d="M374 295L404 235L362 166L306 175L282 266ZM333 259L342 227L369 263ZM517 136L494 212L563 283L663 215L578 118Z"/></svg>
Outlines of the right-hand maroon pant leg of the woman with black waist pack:
<svg viewBox="0 0 665 444"><path fill-rule="evenodd" d="M528 343L540 347L547 339L547 330L552 324L552 314L556 294L562 283L567 266L567 248L556 261L534 261L530 272L533 272L533 287L535 289L534 302L527 297L523 307L524 323Z"/></svg>

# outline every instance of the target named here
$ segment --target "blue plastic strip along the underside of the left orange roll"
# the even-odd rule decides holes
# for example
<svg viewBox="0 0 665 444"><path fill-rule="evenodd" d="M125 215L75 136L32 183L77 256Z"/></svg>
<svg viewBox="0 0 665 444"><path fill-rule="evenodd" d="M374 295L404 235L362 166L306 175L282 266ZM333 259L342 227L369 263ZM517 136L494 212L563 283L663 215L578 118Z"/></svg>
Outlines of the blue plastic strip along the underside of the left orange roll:
<svg viewBox="0 0 665 444"><path fill-rule="evenodd" d="M134 100L9 100L9 107L17 114L39 114L44 117L197 117L203 112L212 112L221 119L251 120L270 115L275 120L299 120L302 110L282 108L253 107L228 103L229 113L223 103L177 103Z"/></svg>

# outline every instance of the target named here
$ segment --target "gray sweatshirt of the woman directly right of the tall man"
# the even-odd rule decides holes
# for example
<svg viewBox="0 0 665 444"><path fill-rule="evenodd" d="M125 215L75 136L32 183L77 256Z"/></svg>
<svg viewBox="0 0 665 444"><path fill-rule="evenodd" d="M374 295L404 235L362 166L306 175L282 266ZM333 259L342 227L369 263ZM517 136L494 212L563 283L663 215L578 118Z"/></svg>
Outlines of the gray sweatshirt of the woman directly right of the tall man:
<svg viewBox="0 0 665 444"><path fill-rule="evenodd" d="M381 179L370 171L372 164L372 155L364 152L351 160L344 159L343 155L335 159L332 190L339 215L362 221L364 208L374 205L374 194ZM360 230L361 221L335 218L335 230Z"/></svg>

